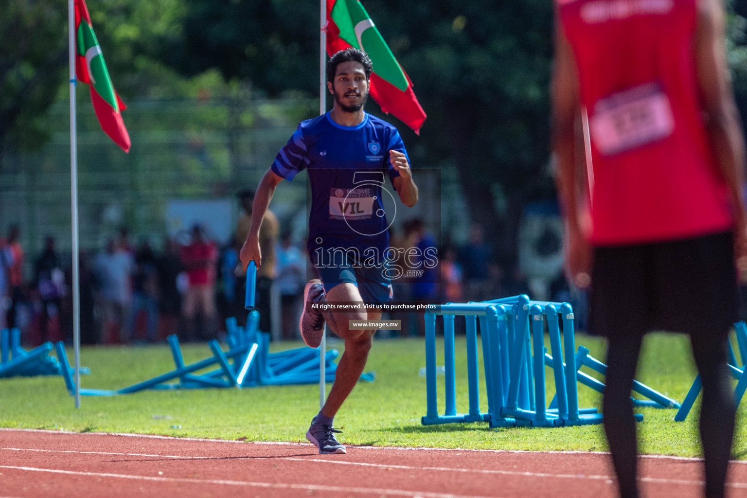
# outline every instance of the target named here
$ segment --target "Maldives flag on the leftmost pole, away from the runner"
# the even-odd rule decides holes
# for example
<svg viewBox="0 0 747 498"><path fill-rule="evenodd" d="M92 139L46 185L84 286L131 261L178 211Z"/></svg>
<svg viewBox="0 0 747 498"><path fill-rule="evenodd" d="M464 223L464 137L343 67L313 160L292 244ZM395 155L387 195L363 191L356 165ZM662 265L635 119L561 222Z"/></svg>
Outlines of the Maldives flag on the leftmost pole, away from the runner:
<svg viewBox="0 0 747 498"><path fill-rule="evenodd" d="M91 102L99 123L111 140L125 152L130 150L130 135L122 120L127 107L111 84L99 40L93 33L91 17L84 0L75 0L75 75L90 86Z"/></svg>

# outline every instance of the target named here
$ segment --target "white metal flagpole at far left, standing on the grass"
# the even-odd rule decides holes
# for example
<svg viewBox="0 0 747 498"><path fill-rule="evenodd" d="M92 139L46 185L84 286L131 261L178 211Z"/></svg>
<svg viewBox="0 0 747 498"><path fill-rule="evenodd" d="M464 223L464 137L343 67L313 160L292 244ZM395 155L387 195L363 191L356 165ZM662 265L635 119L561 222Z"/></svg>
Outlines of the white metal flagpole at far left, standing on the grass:
<svg viewBox="0 0 747 498"><path fill-rule="evenodd" d="M78 134L75 123L75 0L67 0L70 65L70 200L72 211L72 343L75 350L75 408L81 408L81 303L78 292ZM63 365L67 368L67 365Z"/></svg>

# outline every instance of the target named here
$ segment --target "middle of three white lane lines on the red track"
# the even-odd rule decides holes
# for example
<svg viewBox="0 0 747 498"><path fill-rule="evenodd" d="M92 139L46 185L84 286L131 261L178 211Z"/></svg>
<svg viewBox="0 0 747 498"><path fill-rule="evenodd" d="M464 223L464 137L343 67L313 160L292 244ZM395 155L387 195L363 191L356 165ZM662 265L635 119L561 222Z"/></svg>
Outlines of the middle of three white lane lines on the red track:
<svg viewBox="0 0 747 498"><path fill-rule="evenodd" d="M153 455L149 453L118 453L118 452L95 452L95 451L76 451L72 449L30 449L30 448L0 448L7 449L10 451L30 451L30 452L49 452L49 453L77 453L83 455L123 455L123 456L143 456L150 458L181 458L187 460L211 460L219 459L223 457L214 456L185 456L185 455ZM247 460L252 458L250 456L238 456L234 458L246 458ZM462 467L415 467L413 465L397 465L397 464L372 464L361 461L344 461L344 460L326 460L323 458L298 458L291 456L278 456L273 457L273 461L285 460L285 461L313 461L322 464L338 464L338 465L353 465L358 467L373 467L379 469L401 469L401 470L434 470L437 472L456 472L456 473L480 473L480 474L493 474L499 476L521 476L521 477L544 477L544 478L557 478L557 479L588 479L592 481L604 481L606 484L613 483L612 476L596 476L586 474L552 474L542 472L529 472L522 470L498 470L498 469L471 469ZM702 486L705 484L704 481L689 481L684 479L664 479L658 477L639 477L642 482L656 482L659 484L672 484L672 485L696 485ZM732 482L727 484L731 488L747 488L747 483Z"/></svg>

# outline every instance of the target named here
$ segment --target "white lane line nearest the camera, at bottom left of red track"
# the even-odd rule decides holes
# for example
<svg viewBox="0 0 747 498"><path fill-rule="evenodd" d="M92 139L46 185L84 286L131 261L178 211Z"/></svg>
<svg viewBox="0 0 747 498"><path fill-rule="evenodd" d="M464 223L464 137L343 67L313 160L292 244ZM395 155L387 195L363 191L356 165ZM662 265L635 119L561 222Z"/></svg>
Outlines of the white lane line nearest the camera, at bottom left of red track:
<svg viewBox="0 0 747 498"><path fill-rule="evenodd" d="M253 481L232 481L225 479L179 479L174 477L152 477L152 476L134 476L131 474L113 474L99 472L77 472L75 470L58 470L58 469L40 469L37 467L16 467L11 465L0 465L0 469L26 470L28 472L46 472L55 474L65 474L67 476L91 476L91 477L112 477L117 479L134 479L151 482L185 482L191 485L209 484L209 485L228 485L244 486L250 488L276 488L276 489L299 489L306 491L328 491L330 493L355 493L355 494L391 494L397 497L421 497L421 498L489 498L478 497L463 494L450 493L433 493L430 491L406 491L402 489L387 488L347 488L344 486L326 486L310 484L291 484L286 482L253 482Z"/></svg>

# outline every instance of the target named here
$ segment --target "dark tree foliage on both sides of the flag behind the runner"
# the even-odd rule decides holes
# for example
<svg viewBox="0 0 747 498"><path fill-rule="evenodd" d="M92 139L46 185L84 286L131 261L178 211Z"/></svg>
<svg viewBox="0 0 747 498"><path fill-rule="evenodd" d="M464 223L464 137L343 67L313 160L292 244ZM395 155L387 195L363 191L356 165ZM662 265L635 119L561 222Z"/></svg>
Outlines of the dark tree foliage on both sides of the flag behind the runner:
<svg viewBox="0 0 747 498"><path fill-rule="evenodd" d="M185 4L181 34L163 45L164 62L185 75L217 68L225 78L249 78L270 94L318 91L317 2ZM522 205L552 195L551 1L364 4L429 116L420 139L397 123L415 167L456 166L470 211L465 220L486 225L500 259L513 261ZM503 202L495 202L496 185L506 193Z"/></svg>

